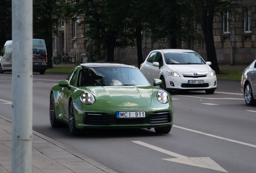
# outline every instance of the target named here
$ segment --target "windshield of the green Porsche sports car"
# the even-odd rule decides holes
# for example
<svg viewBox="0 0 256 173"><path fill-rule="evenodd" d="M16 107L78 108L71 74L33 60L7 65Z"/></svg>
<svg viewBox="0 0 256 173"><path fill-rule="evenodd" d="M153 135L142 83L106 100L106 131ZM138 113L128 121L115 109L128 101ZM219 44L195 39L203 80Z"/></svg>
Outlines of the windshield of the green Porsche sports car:
<svg viewBox="0 0 256 173"><path fill-rule="evenodd" d="M78 87L129 85L150 86L139 69L118 66L83 68L77 82Z"/></svg>

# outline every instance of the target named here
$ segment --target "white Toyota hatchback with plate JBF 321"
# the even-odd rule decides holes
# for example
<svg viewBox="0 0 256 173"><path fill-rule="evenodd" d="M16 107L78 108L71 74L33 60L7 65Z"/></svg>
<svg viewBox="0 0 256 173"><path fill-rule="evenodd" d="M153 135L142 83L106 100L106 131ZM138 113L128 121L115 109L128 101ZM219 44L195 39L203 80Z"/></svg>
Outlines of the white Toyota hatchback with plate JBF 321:
<svg viewBox="0 0 256 173"><path fill-rule="evenodd" d="M171 91L205 91L213 94L217 89L215 71L193 50L153 50L140 65L149 82L162 80L160 87Z"/></svg>

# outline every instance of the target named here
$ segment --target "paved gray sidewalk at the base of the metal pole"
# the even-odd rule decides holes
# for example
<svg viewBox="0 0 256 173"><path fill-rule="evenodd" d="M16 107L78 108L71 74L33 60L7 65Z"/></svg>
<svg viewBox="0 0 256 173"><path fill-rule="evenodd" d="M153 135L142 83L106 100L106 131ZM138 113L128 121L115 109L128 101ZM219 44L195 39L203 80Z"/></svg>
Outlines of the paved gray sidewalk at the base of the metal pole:
<svg viewBox="0 0 256 173"><path fill-rule="evenodd" d="M0 173L11 172L11 120L0 115ZM96 161L33 131L32 173L116 173Z"/></svg>

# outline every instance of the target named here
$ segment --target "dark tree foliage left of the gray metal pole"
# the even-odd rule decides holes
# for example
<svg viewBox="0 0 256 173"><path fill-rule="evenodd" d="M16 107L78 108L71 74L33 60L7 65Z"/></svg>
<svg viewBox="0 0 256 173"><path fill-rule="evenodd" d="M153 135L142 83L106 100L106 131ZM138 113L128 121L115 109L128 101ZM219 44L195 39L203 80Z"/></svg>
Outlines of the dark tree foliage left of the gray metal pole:
<svg viewBox="0 0 256 173"><path fill-rule="evenodd" d="M12 40L12 1L0 1L0 51L7 40Z"/></svg>

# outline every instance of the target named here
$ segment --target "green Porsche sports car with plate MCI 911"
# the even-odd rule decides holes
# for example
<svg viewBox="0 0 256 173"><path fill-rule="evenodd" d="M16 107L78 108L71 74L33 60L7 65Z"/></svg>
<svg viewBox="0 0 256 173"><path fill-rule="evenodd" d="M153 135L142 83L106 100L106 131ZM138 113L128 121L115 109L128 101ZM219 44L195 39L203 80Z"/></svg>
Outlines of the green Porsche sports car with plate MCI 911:
<svg viewBox="0 0 256 173"><path fill-rule="evenodd" d="M173 125L171 95L149 84L131 64L85 63L51 89L50 123L69 126L72 135L82 129L155 128L169 133Z"/></svg>

